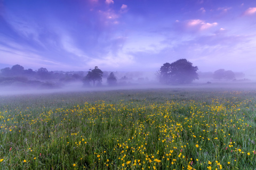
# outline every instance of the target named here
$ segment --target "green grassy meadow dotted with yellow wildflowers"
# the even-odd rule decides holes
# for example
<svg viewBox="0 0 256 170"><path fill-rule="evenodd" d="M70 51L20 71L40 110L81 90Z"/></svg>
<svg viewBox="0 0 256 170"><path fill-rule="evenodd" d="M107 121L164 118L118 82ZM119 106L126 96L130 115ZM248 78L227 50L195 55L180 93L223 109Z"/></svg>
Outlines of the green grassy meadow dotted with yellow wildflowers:
<svg viewBox="0 0 256 170"><path fill-rule="evenodd" d="M256 91L0 96L0 169L256 169Z"/></svg>

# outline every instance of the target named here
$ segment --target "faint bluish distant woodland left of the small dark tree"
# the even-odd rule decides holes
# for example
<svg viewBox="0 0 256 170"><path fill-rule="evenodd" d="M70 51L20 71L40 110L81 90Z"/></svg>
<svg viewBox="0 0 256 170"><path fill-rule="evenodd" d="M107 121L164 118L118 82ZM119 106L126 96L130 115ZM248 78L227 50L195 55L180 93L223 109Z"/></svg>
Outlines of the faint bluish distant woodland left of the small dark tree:
<svg viewBox="0 0 256 170"><path fill-rule="evenodd" d="M60 88L63 83L82 81L83 72L48 71L46 68L25 70L23 66L16 64L1 69L0 87L20 88Z"/></svg>

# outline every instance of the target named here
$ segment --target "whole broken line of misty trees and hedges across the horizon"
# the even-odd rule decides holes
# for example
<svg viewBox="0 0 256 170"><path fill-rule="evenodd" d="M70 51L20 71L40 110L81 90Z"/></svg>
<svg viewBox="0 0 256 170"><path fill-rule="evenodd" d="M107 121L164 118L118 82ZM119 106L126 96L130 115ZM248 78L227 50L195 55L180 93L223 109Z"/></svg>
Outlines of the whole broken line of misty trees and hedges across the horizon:
<svg viewBox="0 0 256 170"><path fill-rule="evenodd" d="M183 58L171 64L164 63L157 71L156 77L159 82L163 84L188 84L199 79L197 71L197 66L193 66L193 63ZM0 75L2 76L0 77L0 85L1 83L8 84L13 81L39 83L38 80L58 79L60 82L82 81L85 87L95 87L102 86L103 72L98 66L95 66L94 69L90 69L88 72L63 73L61 71L48 71L44 67L41 67L36 71L33 71L32 69L25 70L23 66L16 64L11 68L5 67L4 69L1 69ZM226 71L224 69L219 69L214 71L212 78L215 80L234 80L235 73L231 70ZM34 81L29 79L34 79ZM127 78L124 76L120 80L126 79ZM110 72L110 74L107 75L107 84L108 86L117 86L117 78L113 72Z"/></svg>

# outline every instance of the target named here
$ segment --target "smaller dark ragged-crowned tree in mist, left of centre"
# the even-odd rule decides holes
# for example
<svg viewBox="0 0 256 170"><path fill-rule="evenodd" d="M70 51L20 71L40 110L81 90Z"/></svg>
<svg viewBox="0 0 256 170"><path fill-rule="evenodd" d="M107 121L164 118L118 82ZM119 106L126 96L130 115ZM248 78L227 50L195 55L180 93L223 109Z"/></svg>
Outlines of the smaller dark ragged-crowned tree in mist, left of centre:
<svg viewBox="0 0 256 170"><path fill-rule="evenodd" d="M95 66L93 70L89 71L88 74L84 77L84 84L89 84L91 81L93 82L93 86L95 86L95 82L102 82L102 74L103 72L98 69L98 66Z"/></svg>

